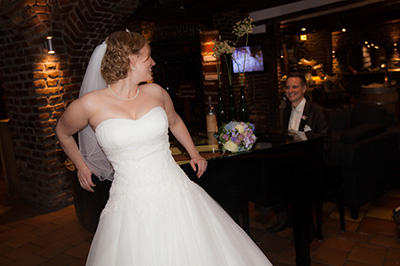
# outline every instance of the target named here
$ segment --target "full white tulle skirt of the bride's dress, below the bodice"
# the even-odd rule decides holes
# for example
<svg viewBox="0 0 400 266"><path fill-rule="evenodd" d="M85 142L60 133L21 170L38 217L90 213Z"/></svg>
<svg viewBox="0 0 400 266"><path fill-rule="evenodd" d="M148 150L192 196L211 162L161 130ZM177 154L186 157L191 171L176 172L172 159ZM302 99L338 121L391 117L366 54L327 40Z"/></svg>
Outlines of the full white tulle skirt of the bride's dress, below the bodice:
<svg viewBox="0 0 400 266"><path fill-rule="evenodd" d="M87 265L264 266L269 260L231 217L188 181L156 202L103 211Z"/></svg>

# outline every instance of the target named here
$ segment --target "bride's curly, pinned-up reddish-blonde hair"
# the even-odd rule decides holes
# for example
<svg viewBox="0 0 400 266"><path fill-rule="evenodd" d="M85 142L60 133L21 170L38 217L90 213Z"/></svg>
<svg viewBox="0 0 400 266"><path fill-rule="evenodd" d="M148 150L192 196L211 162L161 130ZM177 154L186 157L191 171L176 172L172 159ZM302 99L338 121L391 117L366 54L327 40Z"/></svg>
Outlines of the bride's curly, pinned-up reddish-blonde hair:
<svg viewBox="0 0 400 266"><path fill-rule="evenodd" d="M136 32L117 31L106 39L107 50L101 61L101 75L107 84L113 84L128 76L129 55L149 45L147 40ZM150 48L150 47L149 47Z"/></svg>

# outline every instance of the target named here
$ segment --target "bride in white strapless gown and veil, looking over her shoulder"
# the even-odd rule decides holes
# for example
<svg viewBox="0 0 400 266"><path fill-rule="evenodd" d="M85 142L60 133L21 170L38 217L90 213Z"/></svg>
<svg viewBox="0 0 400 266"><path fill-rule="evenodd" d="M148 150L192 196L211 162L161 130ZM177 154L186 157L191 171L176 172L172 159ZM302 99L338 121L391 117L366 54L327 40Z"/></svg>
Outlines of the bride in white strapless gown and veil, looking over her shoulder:
<svg viewBox="0 0 400 266"><path fill-rule="evenodd" d="M168 93L155 83L142 84L152 79L154 65L143 36L112 33L95 49L80 98L57 124L82 188L95 191L92 173L113 180L87 265L271 265L175 163L168 129L189 153L197 176L207 168Z"/></svg>

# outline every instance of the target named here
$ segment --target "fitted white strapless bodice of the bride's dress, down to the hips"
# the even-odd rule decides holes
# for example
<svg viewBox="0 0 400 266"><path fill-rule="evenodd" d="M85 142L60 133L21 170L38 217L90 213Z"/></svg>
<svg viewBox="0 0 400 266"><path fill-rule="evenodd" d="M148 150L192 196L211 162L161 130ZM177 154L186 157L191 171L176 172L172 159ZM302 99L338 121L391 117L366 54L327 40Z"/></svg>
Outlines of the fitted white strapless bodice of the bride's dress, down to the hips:
<svg viewBox="0 0 400 266"><path fill-rule="evenodd" d="M168 118L162 107L137 120L104 120L96 128L96 137L115 171L109 205L158 201L173 187L189 182L171 155Z"/></svg>

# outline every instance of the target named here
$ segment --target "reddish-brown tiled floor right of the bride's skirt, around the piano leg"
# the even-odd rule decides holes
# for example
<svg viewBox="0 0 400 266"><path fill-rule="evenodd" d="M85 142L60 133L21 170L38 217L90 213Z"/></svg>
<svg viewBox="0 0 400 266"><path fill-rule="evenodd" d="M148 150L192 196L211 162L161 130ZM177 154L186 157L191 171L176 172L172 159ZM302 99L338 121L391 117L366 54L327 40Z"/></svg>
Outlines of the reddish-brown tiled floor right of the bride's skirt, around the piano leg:
<svg viewBox="0 0 400 266"><path fill-rule="evenodd" d="M346 209L346 231L340 231L337 205L323 205L323 239L311 243L312 265L400 265L400 228L392 211L400 206L400 189L364 205L359 219ZM272 214L251 212L251 235L274 265L295 265L291 229L265 231L275 223Z"/></svg>

